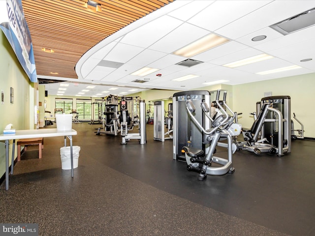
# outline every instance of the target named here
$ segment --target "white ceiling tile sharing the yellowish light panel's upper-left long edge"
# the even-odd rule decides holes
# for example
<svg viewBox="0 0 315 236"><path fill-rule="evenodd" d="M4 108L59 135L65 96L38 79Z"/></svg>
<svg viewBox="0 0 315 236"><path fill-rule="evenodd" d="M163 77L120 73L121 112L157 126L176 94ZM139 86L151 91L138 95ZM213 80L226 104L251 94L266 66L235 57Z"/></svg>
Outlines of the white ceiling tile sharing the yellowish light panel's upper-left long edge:
<svg viewBox="0 0 315 236"><path fill-rule="evenodd" d="M149 49L172 53L209 33L208 30L184 23L150 46Z"/></svg>

